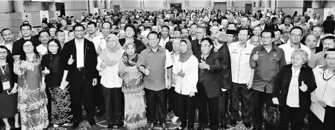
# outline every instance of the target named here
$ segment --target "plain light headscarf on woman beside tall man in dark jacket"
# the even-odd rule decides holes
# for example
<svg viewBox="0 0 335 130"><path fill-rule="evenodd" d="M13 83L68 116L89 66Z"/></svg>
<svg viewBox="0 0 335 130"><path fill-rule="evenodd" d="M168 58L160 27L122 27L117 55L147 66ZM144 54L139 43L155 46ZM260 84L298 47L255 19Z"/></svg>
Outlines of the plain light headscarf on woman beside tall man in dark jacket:
<svg viewBox="0 0 335 130"><path fill-rule="evenodd" d="M116 45L113 48L110 48L108 45L106 45L106 48L101 50L99 57L107 64L107 66L114 66L118 63L123 53L123 49L116 35L109 34L107 36L107 41L108 40L116 41Z"/></svg>

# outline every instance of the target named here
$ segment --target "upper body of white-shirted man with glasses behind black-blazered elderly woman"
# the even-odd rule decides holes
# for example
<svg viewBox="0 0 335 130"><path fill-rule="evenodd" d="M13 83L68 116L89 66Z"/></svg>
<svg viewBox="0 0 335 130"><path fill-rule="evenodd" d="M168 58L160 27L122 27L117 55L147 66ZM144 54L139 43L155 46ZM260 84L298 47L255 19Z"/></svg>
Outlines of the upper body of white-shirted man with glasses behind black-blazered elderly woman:
<svg viewBox="0 0 335 130"><path fill-rule="evenodd" d="M291 64L292 52L297 48L305 50L308 53L308 59L311 59L311 49L300 43L302 36L304 35L302 28L300 28L299 26L295 26L290 30L289 33L289 41L287 41L286 44L278 46L279 48L282 48L282 50L284 50L285 52L286 63Z"/></svg>

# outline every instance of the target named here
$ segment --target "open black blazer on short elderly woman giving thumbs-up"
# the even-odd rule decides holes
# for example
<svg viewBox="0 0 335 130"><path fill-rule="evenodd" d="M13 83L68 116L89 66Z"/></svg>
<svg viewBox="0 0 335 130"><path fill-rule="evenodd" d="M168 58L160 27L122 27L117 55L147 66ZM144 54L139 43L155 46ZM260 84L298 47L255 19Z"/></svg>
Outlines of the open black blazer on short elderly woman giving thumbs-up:
<svg viewBox="0 0 335 130"><path fill-rule="evenodd" d="M292 64L282 66L274 84L273 97L277 97L279 104L284 105L287 101L287 94L289 93L289 84L292 77ZM303 92L299 89L299 106L302 109L309 109L311 105L311 92L316 89L316 82L313 70L308 65L303 65L300 68L298 76L298 84L301 82L307 85L307 91Z"/></svg>

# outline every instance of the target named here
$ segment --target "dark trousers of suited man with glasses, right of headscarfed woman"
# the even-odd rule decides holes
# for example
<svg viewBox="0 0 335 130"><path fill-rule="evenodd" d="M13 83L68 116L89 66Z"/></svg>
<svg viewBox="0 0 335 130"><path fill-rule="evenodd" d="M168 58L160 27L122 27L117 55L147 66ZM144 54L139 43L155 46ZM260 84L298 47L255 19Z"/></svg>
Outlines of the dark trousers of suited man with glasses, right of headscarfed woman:
<svg viewBox="0 0 335 130"><path fill-rule="evenodd" d="M208 125L208 109L210 117L210 129L219 129L219 97L208 98L203 84L197 85L199 99L199 126L206 127ZM207 109L208 104L208 109Z"/></svg>

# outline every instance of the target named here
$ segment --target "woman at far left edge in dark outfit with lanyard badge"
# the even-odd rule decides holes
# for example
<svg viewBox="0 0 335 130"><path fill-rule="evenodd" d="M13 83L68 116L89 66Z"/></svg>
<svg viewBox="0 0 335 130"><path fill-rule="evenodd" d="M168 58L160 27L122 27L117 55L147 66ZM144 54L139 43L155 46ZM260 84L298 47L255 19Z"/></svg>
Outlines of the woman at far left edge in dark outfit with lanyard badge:
<svg viewBox="0 0 335 130"><path fill-rule="evenodd" d="M19 113L17 111L17 75L13 71L14 59L10 50L0 46L0 118L10 130L8 119L15 117L15 128L19 129Z"/></svg>

